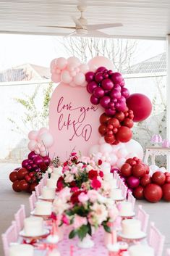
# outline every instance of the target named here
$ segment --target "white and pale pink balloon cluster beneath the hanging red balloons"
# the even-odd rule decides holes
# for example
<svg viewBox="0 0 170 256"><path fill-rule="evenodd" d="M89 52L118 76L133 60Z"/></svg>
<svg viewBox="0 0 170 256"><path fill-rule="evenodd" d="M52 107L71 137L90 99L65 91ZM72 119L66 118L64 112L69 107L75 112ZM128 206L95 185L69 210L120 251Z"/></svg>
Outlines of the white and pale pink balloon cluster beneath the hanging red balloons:
<svg viewBox="0 0 170 256"><path fill-rule="evenodd" d="M98 144L90 147L88 155L94 157L95 162L102 160L103 162L109 162L114 168L121 168L129 157L135 156L142 159L143 147L134 139L125 144L111 145L101 137Z"/></svg>

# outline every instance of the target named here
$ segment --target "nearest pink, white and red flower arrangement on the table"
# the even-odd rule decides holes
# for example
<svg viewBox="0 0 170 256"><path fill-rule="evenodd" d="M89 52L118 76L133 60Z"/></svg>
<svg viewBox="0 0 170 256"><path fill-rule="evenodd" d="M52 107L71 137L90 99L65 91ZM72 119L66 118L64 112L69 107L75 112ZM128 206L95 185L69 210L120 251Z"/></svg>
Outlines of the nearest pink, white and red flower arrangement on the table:
<svg viewBox="0 0 170 256"><path fill-rule="evenodd" d="M118 210L110 198L103 197L95 189L72 192L65 187L59 191L54 200L54 214L57 215L60 225L72 227L69 239L78 236L80 240L86 235L92 236L92 230L103 226L106 232L111 232L109 222L114 221Z"/></svg>

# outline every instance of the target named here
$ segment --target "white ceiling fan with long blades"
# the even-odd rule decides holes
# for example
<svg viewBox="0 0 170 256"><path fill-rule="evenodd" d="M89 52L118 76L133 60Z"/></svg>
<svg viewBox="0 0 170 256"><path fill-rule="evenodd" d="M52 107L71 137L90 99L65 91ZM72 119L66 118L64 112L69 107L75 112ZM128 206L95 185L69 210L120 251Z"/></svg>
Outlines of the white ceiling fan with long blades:
<svg viewBox="0 0 170 256"><path fill-rule="evenodd" d="M72 17L72 20L75 22L75 26L64 27L64 26L55 26L55 25L46 25L43 27L46 28L64 28L64 29L72 29L74 30L72 33L69 33L67 36L101 36L101 37L109 37L107 33L103 33L99 31L104 28L116 28L122 27L122 23L106 23L106 24L94 24L89 25L88 20L83 16L83 12L87 8L86 5L77 5L77 9L80 11L80 18Z"/></svg>

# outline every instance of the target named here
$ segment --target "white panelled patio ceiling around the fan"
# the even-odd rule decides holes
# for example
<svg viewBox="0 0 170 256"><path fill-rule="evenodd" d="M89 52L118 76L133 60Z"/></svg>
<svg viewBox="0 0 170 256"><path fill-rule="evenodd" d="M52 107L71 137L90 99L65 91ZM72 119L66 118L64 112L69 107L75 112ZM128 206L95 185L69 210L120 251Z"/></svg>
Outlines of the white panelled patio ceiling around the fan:
<svg viewBox="0 0 170 256"><path fill-rule="evenodd" d="M1 33L65 36L69 29L43 25L74 25L80 17L77 0L0 0ZM101 30L111 37L165 39L170 33L169 0L89 0L85 18L89 24L122 23L123 27Z"/></svg>

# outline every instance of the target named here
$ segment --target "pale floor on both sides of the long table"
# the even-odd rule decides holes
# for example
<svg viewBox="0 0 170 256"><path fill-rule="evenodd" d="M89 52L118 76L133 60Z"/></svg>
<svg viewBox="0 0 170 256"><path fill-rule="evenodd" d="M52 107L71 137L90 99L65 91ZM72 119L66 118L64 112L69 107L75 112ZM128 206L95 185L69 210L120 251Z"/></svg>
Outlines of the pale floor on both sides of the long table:
<svg viewBox="0 0 170 256"><path fill-rule="evenodd" d="M25 204L27 215L29 214L29 194L15 193L12 191L12 183L9 181L9 173L16 167L15 164L0 164L0 234L10 226L14 212L18 210L21 204ZM170 202L151 204L146 201L138 201L137 204L143 205L145 211L150 214L150 220L154 221L161 233L166 236L165 249L170 248ZM4 255L1 239L0 255Z"/></svg>

